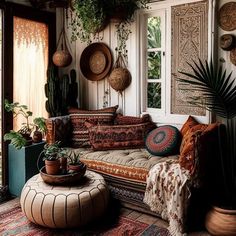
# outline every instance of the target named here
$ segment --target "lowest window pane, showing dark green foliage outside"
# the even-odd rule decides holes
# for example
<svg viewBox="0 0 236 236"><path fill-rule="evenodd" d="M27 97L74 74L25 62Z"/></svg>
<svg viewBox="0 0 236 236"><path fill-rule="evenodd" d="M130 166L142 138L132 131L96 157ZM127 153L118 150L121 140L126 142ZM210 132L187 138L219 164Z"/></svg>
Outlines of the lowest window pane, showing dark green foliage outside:
<svg viewBox="0 0 236 236"><path fill-rule="evenodd" d="M161 84L148 83L147 88L148 108L161 108Z"/></svg>

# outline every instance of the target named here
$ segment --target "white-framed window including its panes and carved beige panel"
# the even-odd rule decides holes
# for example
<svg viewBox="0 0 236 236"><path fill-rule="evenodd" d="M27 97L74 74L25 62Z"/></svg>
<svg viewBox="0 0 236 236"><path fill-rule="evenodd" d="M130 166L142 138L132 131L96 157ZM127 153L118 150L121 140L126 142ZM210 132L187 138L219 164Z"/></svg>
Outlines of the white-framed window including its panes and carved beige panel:
<svg viewBox="0 0 236 236"><path fill-rule="evenodd" d="M191 94L181 90L178 71L209 58L212 7L208 0L158 1L139 14L140 110L156 123L180 126L188 115L209 122L209 113L187 102Z"/></svg>

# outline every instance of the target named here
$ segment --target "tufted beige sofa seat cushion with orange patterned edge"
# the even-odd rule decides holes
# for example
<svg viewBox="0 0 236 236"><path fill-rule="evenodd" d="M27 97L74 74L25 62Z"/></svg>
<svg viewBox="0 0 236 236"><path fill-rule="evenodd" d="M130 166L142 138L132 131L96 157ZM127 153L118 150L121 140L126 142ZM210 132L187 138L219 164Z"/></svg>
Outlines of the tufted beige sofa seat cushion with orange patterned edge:
<svg viewBox="0 0 236 236"><path fill-rule="evenodd" d="M155 164L178 158L178 156L156 158L144 148L106 151L78 148L68 151L80 153L80 160L90 170L142 185L146 183L148 172Z"/></svg>

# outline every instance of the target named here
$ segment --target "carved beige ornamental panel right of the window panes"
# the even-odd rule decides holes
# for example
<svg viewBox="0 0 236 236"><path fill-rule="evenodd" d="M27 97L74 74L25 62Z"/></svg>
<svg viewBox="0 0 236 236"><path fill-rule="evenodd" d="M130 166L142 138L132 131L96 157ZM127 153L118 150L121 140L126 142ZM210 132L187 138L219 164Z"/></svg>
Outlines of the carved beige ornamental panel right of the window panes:
<svg viewBox="0 0 236 236"><path fill-rule="evenodd" d="M178 71L191 70L187 62L197 60L199 57L207 59L208 1L174 6L171 11L171 113L204 116L205 110L187 102L192 91L187 89L189 85L180 83L177 78L183 77Z"/></svg>

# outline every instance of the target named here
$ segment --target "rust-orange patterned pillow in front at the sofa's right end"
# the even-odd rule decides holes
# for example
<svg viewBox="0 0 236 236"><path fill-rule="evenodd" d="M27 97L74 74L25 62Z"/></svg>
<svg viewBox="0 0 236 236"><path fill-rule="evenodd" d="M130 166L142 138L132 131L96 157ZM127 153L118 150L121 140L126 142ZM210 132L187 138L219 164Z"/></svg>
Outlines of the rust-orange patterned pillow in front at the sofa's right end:
<svg viewBox="0 0 236 236"><path fill-rule="evenodd" d="M204 158L204 150L207 146L210 147L212 134L215 135L218 125L218 123L195 125L183 137L179 163L181 167L189 170L190 174L194 173L197 162Z"/></svg>

